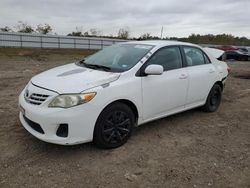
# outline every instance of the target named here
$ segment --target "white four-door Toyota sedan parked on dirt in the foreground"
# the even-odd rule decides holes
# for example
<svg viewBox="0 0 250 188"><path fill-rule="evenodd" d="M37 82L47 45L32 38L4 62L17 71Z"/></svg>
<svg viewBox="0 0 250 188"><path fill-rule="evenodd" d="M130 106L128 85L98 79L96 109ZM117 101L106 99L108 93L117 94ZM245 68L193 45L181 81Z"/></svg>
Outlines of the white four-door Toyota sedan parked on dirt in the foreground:
<svg viewBox="0 0 250 188"><path fill-rule="evenodd" d="M216 111L227 75L226 63L194 44L120 43L34 76L19 117L46 142L115 148L134 126L200 106Z"/></svg>

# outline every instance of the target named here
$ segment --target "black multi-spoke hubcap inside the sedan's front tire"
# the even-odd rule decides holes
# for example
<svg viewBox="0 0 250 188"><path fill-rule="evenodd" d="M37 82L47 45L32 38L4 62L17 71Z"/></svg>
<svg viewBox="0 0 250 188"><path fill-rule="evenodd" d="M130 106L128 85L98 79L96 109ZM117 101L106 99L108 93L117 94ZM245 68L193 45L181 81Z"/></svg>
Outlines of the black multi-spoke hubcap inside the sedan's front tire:
<svg viewBox="0 0 250 188"><path fill-rule="evenodd" d="M108 143L120 143L129 134L131 120L122 111L112 112L104 121L103 137Z"/></svg>

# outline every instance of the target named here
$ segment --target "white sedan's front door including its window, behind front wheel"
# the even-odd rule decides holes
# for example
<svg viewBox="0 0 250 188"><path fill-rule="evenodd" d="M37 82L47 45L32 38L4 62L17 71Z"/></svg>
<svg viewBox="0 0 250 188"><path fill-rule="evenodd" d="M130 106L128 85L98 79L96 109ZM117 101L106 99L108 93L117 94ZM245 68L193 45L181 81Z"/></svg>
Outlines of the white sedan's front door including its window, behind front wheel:
<svg viewBox="0 0 250 188"><path fill-rule="evenodd" d="M162 75L142 77L143 119L150 120L184 109L188 76L179 47L165 47L146 62L162 65Z"/></svg>

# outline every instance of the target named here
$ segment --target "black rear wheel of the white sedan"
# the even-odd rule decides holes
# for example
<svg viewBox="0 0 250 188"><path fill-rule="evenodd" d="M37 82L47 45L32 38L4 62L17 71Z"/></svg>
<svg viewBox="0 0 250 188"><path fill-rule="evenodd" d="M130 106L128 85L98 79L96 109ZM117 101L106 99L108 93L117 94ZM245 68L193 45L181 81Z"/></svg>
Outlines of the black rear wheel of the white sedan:
<svg viewBox="0 0 250 188"><path fill-rule="evenodd" d="M203 110L206 112L215 112L220 106L222 96L222 88L215 84L210 90Z"/></svg>

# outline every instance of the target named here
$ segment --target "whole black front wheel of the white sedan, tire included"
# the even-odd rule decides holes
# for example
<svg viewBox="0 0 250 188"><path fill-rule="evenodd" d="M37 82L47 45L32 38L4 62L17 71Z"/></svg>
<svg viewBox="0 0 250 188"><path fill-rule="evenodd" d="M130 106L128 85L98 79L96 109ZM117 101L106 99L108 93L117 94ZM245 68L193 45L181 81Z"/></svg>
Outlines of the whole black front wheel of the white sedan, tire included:
<svg viewBox="0 0 250 188"><path fill-rule="evenodd" d="M127 142L135 125L135 115L124 103L114 103L99 115L93 141L97 147L117 148Z"/></svg>

